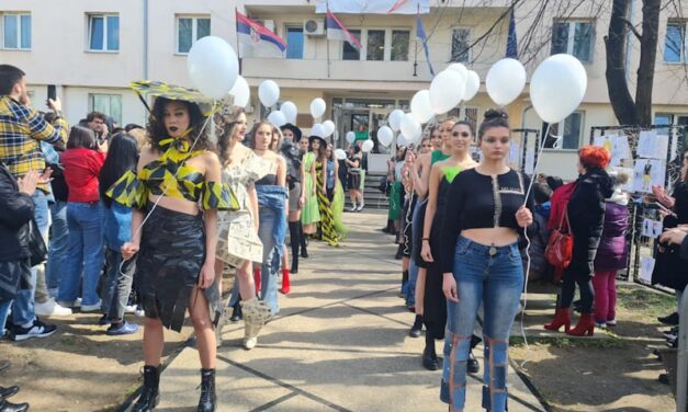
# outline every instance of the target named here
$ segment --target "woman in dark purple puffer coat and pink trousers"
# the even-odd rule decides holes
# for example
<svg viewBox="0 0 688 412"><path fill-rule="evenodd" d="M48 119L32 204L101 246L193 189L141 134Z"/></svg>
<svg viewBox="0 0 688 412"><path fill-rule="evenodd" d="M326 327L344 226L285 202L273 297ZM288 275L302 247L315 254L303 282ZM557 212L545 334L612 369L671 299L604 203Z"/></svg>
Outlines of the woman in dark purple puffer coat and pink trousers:
<svg viewBox="0 0 688 412"><path fill-rule="evenodd" d="M625 267L629 249L625 232L629 228L629 196L621 186L628 174L614 178L614 191L605 203L605 228L595 258L595 323L598 328L614 327L617 304L617 272Z"/></svg>

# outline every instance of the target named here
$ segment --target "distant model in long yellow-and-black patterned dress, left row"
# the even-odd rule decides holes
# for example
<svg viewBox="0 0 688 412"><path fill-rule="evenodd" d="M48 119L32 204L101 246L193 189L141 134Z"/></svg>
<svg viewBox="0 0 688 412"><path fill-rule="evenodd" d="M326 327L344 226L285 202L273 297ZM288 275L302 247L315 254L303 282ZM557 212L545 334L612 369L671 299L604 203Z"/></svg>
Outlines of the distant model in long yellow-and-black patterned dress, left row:
<svg viewBox="0 0 688 412"><path fill-rule="evenodd" d="M318 136L311 136L308 140L311 141L311 148L316 154L316 196L318 199L318 211L320 214L318 232L324 242L327 242L330 247L336 247L339 245L339 234L335 227L331 203L327 197L327 141Z"/></svg>

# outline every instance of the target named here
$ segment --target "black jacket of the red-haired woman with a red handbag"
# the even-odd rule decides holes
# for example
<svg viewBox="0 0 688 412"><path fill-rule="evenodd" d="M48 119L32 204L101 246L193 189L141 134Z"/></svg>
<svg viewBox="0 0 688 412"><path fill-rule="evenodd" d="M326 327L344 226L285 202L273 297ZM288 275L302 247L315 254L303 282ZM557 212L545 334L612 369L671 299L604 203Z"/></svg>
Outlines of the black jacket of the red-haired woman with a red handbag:
<svg viewBox="0 0 688 412"><path fill-rule="evenodd" d="M612 193L611 178L601 169L590 170L576 181L566 208L574 238L573 256L566 274L595 274L595 256L605 226L605 199Z"/></svg>

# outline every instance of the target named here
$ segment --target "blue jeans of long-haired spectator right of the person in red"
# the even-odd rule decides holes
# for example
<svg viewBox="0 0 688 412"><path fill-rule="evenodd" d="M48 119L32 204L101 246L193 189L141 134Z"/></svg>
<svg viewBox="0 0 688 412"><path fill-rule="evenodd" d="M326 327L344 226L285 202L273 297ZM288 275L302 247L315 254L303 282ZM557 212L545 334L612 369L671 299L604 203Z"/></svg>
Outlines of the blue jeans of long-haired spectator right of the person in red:
<svg viewBox="0 0 688 412"><path fill-rule="evenodd" d="M102 305L100 310L111 320L122 320L126 304L132 291L134 272L136 272L136 258L132 258L122 264L122 253L119 250L108 248L105 250L108 271L101 290ZM120 266L122 271L120 272Z"/></svg>

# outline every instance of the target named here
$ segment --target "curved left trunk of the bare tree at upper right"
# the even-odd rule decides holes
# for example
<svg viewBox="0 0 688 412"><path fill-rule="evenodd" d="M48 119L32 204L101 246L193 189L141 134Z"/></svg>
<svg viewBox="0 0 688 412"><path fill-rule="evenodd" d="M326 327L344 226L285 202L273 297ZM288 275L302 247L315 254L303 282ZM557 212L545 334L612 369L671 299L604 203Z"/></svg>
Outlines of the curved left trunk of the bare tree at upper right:
<svg viewBox="0 0 688 412"><path fill-rule="evenodd" d="M605 36L607 90L609 91L611 107L621 125L638 124L635 104L625 79L625 45L629 34L629 27L625 22L628 21L630 9L629 0L613 0L611 18L609 19L609 33ZM650 91L652 93L652 84L650 85Z"/></svg>

